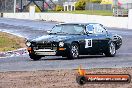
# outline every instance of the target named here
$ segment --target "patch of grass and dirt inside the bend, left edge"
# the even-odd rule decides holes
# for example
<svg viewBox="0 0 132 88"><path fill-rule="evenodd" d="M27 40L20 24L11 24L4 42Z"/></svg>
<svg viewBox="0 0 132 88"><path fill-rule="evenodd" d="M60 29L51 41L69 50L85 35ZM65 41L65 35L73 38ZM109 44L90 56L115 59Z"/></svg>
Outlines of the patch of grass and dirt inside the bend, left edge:
<svg viewBox="0 0 132 88"><path fill-rule="evenodd" d="M10 51L25 47L24 38L0 32L0 51Z"/></svg>

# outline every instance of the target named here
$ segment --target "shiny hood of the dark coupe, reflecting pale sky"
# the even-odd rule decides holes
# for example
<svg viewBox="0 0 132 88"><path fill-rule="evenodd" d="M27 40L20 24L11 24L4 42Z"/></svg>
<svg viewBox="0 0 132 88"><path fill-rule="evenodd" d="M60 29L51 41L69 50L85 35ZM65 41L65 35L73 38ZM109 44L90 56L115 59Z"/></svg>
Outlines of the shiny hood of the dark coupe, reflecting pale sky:
<svg viewBox="0 0 132 88"><path fill-rule="evenodd" d="M69 39L73 39L73 38L77 38L79 37L78 35L44 35L41 36L39 38L33 39L33 42L42 42L42 41L55 41L55 42L59 42L59 41L66 41Z"/></svg>

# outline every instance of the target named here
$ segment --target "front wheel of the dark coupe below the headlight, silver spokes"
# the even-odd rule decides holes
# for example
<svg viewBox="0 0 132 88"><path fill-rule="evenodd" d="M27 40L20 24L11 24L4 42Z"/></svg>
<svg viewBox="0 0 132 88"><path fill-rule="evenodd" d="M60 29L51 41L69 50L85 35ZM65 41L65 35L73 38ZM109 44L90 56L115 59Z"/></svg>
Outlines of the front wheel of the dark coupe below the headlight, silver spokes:
<svg viewBox="0 0 132 88"><path fill-rule="evenodd" d="M79 58L79 46L78 46L78 44L73 43L73 44L71 45L71 49L70 49L68 58L70 58L70 59Z"/></svg>

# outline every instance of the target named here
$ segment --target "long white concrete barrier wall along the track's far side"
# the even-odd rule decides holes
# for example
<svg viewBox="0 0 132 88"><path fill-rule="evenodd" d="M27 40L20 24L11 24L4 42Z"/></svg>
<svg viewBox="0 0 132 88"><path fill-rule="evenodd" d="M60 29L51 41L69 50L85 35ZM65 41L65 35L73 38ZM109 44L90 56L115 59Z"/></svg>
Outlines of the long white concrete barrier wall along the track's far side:
<svg viewBox="0 0 132 88"><path fill-rule="evenodd" d="M130 28L132 29L132 11L130 11L129 21L128 17L113 17L113 16L98 16L85 14L69 14L69 13L35 13L35 8L32 8L28 13L4 13L4 18L16 19L31 19L31 20L45 20L57 21L66 23L101 23L106 27L116 28ZM129 24L128 24L129 23Z"/></svg>

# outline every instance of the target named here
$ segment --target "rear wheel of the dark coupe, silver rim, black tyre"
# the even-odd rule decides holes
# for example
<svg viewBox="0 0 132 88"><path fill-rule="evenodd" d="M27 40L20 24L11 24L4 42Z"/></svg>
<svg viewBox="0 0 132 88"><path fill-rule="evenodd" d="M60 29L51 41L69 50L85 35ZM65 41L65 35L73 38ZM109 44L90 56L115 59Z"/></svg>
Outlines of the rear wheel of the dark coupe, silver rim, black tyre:
<svg viewBox="0 0 132 88"><path fill-rule="evenodd" d="M105 51L105 56L114 57L116 55L116 47L113 42L109 44L109 47Z"/></svg>

